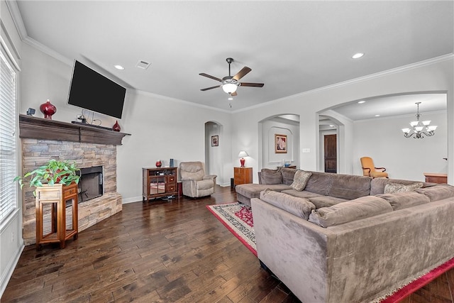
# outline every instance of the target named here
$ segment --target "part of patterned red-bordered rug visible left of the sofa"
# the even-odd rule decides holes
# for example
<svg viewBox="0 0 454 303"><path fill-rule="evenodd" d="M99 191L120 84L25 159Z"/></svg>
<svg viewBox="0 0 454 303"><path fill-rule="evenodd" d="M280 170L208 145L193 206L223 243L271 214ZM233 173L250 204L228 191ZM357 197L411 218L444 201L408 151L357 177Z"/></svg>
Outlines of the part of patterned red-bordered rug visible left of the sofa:
<svg viewBox="0 0 454 303"><path fill-rule="evenodd" d="M250 206L240 203L207 205L216 218L233 233L255 256L255 233L253 211Z"/></svg>

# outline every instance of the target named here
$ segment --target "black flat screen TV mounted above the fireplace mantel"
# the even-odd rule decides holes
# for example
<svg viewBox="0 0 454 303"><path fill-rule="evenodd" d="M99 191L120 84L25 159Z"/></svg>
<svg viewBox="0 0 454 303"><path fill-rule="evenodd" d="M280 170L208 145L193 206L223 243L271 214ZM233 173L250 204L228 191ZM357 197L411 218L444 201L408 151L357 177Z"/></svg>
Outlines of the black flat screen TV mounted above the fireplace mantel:
<svg viewBox="0 0 454 303"><path fill-rule="evenodd" d="M74 61L68 104L121 119L126 88Z"/></svg>

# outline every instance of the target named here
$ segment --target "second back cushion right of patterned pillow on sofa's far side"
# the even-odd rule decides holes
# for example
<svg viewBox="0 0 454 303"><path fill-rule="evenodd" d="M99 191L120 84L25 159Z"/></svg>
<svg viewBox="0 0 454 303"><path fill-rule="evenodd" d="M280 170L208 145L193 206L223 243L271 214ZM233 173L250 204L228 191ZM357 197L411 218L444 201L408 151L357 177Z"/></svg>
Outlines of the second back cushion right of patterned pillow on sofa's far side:
<svg viewBox="0 0 454 303"><path fill-rule="evenodd" d="M348 200L365 197L370 194L370 180L370 177L335 174L328 194Z"/></svg>

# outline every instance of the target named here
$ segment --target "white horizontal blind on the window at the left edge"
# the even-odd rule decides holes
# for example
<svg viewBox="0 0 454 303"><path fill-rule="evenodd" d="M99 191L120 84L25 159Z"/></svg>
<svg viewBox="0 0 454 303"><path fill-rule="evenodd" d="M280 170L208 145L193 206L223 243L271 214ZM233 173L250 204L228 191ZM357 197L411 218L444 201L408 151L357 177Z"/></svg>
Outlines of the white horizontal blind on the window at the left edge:
<svg viewBox="0 0 454 303"><path fill-rule="evenodd" d="M17 207L16 72L0 52L0 223Z"/></svg>

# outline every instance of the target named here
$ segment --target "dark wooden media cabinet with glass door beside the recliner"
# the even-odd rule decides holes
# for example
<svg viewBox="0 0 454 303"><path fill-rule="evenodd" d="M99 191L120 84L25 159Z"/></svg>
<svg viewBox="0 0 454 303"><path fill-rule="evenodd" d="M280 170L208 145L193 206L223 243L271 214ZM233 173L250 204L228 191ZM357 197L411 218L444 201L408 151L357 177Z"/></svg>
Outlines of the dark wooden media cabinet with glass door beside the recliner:
<svg viewBox="0 0 454 303"><path fill-rule="evenodd" d="M142 182L143 202L177 195L177 167L143 167Z"/></svg>

